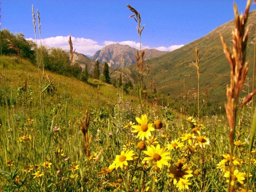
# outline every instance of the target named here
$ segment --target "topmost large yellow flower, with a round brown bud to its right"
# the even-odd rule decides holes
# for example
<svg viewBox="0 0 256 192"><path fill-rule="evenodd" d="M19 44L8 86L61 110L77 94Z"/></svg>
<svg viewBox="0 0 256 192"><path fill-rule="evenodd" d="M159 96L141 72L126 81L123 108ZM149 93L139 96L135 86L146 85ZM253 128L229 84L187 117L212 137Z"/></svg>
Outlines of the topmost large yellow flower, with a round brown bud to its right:
<svg viewBox="0 0 256 192"><path fill-rule="evenodd" d="M147 123L147 115L144 114L141 116L141 119L139 117L136 117L136 121L140 124L140 125L133 125L131 126L132 128L134 128L134 130L132 131L133 133L137 133L137 138L139 137L139 139L142 139L142 141L145 138L149 138L151 136L151 132L150 131L155 131L155 128L153 128L153 123Z"/></svg>

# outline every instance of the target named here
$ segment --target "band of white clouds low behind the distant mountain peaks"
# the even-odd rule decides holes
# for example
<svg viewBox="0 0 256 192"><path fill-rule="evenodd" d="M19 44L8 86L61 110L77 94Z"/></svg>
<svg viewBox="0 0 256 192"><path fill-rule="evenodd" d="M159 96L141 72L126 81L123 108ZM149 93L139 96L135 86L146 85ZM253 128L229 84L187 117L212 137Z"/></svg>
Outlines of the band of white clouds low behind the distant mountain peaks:
<svg viewBox="0 0 256 192"><path fill-rule="evenodd" d="M69 50L70 46L68 43L69 36L56 36L56 37L49 37L42 39L42 44L47 45L49 47L61 47L64 50ZM99 45L98 42L92 39L85 39L85 38L76 38L72 37L73 48L78 53L83 53L85 55L93 56L97 50L102 49L106 45L111 45L115 43L119 43L120 45L129 45L130 47L134 47L139 49L140 45L139 42L134 41L122 41L122 42L114 42L114 41L104 41L103 45ZM28 38L27 40L35 41L32 38ZM38 40L38 44L39 44ZM156 47L155 49L160 51L173 51L178 49L184 45L172 45L170 47ZM142 49L150 49L149 46L142 45Z"/></svg>

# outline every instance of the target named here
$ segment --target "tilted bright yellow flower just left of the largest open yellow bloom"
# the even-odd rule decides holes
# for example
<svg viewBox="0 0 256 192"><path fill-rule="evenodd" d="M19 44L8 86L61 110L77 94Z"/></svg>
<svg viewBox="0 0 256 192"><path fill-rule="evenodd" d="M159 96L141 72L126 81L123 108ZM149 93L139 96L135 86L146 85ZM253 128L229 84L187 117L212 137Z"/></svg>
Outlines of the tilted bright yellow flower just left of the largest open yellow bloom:
<svg viewBox="0 0 256 192"><path fill-rule="evenodd" d="M121 155L117 155L116 159L114 160L114 162L109 166L109 169L113 169L113 168L118 168L118 167L123 167L123 165L128 165L127 161L131 161L134 160L134 158L132 156L134 156L134 151L133 150L128 150L128 151L122 151Z"/></svg>

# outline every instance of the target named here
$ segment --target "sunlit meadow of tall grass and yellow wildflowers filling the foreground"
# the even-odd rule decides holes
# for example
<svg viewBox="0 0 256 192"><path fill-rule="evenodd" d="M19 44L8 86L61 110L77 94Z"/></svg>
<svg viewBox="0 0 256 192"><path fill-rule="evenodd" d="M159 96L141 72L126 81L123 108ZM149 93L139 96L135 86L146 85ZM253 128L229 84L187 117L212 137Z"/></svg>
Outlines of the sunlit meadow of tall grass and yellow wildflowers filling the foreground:
<svg viewBox="0 0 256 192"><path fill-rule="evenodd" d="M0 191L255 191L255 91L239 96L250 3L241 16L234 6L232 49L220 38L231 78L225 110L214 116L201 112L198 49L193 114L173 110L168 97L160 103L158 93L145 96L143 52L136 56L137 95L1 56ZM128 8L140 38L141 16ZM70 36L71 60L73 53Z"/></svg>

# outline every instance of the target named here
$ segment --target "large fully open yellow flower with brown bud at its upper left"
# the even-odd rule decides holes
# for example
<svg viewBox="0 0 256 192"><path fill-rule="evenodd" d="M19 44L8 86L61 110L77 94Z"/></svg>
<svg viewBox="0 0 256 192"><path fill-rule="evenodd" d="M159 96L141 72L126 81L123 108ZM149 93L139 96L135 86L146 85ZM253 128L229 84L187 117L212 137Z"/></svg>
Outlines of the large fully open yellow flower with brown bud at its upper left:
<svg viewBox="0 0 256 192"><path fill-rule="evenodd" d="M167 155L169 155L169 152L165 152L166 148L162 147L160 149L160 145L157 144L156 147L154 145L150 145L147 147L147 151L143 151L148 157L145 157L143 161L153 160L156 162L157 167L160 169L162 168L162 164L169 165L167 160L170 160L171 158Z"/></svg>

